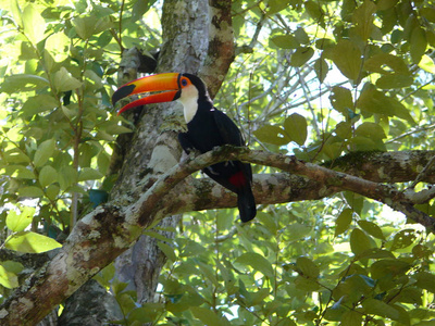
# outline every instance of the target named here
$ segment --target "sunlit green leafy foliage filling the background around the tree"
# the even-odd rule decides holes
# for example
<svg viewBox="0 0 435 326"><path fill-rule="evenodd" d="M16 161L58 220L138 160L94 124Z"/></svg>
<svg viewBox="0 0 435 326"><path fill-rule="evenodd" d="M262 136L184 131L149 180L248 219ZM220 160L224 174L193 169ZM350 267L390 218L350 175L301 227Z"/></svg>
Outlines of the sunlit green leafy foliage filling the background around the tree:
<svg viewBox="0 0 435 326"><path fill-rule="evenodd" d="M61 238L54 227L67 233L104 200L109 145L128 131L108 113L113 74L122 48L140 47L141 39L145 50L159 46L154 2L126 2L124 11L110 0L1 2L7 248L52 249L58 244L47 236ZM351 151L433 149L434 23L435 7L425 1L234 1L239 51L215 103L243 126L252 148L312 162ZM167 258L157 302L137 304L113 266L97 276L122 308L125 318L116 323L435 319L434 236L401 215L341 193L264 206L248 225L234 226L235 218L233 210L192 213L174 240L147 230ZM18 285L22 269L1 263L4 291Z"/></svg>

